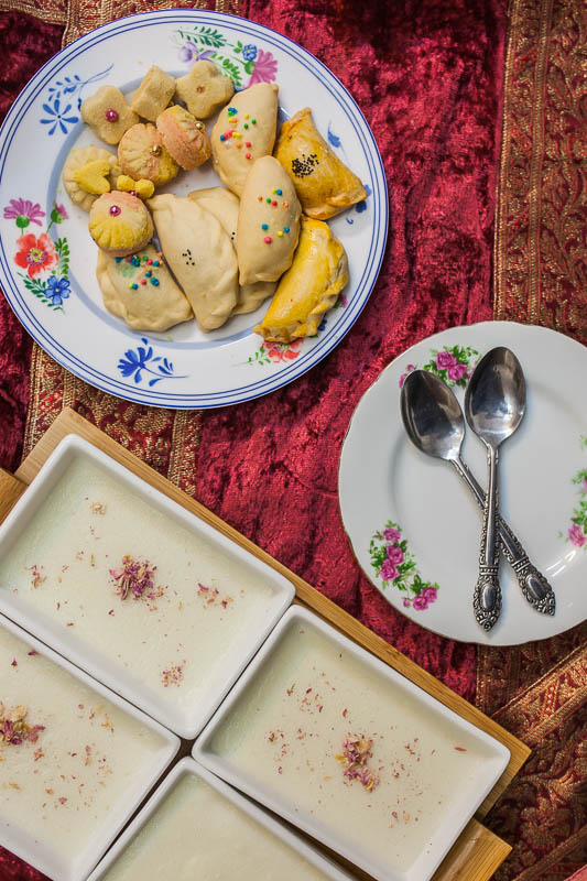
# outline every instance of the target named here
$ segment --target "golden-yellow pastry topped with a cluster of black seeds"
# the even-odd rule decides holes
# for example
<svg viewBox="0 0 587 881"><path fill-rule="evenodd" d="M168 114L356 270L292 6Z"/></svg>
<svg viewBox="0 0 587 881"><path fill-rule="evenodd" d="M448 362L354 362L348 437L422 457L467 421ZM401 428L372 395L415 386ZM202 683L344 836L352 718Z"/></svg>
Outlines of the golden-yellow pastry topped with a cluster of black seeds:
<svg viewBox="0 0 587 881"><path fill-rule="evenodd" d="M283 123L275 157L294 182L308 217L327 220L367 198L360 180L316 130L309 107Z"/></svg>

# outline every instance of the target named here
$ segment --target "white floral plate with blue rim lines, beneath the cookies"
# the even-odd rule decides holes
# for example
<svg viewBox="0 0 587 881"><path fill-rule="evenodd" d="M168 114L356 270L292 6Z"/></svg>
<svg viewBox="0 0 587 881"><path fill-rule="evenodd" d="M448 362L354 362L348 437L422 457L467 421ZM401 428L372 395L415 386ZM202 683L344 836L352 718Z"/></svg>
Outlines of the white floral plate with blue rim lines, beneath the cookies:
<svg viewBox="0 0 587 881"><path fill-rule="evenodd" d="M267 303L210 334L199 331L194 320L165 334L135 333L102 305L87 214L70 203L61 183L72 148L99 143L80 121L79 104L105 84L132 91L153 63L182 76L203 57L228 72L238 87L276 81L282 118L309 104L324 137L368 187L363 203L330 224L347 250L350 281L339 307L327 314L312 339L263 344L251 328ZM219 183L207 163L184 172L167 191L186 195ZM41 238L47 228L48 239ZM221 406L301 377L359 316L379 272L387 229L383 166L351 96L308 52L232 15L163 10L99 28L39 70L0 130L0 284L10 305L56 361L90 384L139 403ZM26 262L17 264L19 253L21 262L45 259L47 269L36 272Z"/></svg>

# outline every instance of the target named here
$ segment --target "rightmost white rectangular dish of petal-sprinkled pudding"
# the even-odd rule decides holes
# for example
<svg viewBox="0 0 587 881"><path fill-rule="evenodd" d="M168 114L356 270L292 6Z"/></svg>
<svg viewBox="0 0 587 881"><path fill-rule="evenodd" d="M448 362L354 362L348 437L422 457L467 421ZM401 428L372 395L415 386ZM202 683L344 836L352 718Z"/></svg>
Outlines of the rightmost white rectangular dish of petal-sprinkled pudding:
<svg viewBox="0 0 587 881"><path fill-rule="evenodd" d="M510 752L294 607L194 758L379 881L427 881Z"/></svg>

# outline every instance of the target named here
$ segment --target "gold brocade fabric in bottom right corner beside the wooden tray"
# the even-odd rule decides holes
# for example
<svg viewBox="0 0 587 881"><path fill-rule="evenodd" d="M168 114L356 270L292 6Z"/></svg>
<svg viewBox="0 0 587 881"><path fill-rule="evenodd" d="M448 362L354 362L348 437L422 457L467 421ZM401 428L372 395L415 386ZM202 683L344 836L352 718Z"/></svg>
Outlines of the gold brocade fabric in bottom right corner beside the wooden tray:
<svg viewBox="0 0 587 881"><path fill-rule="evenodd" d="M561 881L583 864L586 710L584 643L493 715L533 750L488 817L513 845L496 881Z"/></svg>

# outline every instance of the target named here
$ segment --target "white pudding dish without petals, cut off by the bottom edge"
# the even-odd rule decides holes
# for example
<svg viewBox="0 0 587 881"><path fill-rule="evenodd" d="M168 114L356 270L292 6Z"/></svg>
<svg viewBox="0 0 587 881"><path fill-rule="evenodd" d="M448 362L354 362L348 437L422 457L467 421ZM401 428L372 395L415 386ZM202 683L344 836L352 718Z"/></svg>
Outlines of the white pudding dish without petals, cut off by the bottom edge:
<svg viewBox="0 0 587 881"><path fill-rule="evenodd" d="M240 881L350 881L301 836L187 758L88 881L228 881L237 874Z"/></svg>

